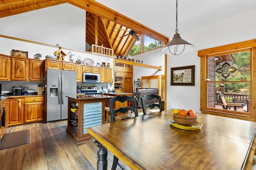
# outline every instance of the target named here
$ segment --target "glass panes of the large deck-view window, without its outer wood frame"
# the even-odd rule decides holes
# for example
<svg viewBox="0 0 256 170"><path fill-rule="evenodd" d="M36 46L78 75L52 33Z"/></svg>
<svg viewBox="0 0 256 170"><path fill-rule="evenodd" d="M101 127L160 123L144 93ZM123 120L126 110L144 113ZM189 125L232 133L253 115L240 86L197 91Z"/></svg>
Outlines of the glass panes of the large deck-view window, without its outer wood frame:
<svg viewBox="0 0 256 170"><path fill-rule="evenodd" d="M207 107L248 115L251 50L207 57ZM242 113L240 113L242 112Z"/></svg>

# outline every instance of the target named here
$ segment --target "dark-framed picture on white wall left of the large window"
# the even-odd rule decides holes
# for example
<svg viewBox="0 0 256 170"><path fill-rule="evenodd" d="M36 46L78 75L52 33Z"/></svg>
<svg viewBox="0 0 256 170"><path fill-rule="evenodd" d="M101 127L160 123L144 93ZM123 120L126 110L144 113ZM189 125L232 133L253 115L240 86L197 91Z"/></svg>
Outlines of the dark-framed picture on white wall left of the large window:
<svg viewBox="0 0 256 170"><path fill-rule="evenodd" d="M195 85L195 65L171 68L171 85Z"/></svg>

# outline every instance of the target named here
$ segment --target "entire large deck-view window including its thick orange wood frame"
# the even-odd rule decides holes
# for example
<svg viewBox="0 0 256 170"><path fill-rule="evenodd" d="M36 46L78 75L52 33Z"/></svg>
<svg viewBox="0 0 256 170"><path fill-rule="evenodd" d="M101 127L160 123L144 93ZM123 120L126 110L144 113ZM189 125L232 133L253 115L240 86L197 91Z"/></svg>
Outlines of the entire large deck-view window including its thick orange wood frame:
<svg viewBox="0 0 256 170"><path fill-rule="evenodd" d="M255 121L256 40L198 51L202 113Z"/></svg>

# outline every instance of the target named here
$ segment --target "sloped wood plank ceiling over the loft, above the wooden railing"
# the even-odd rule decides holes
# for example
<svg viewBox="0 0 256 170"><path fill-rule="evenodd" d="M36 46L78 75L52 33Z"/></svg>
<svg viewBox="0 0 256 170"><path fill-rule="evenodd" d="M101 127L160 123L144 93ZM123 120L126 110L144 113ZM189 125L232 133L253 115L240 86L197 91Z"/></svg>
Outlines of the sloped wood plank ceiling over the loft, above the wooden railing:
<svg viewBox="0 0 256 170"><path fill-rule="evenodd" d="M90 45L103 45L113 49L115 55L126 55L136 42L129 31L120 24L86 12L86 42Z"/></svg>

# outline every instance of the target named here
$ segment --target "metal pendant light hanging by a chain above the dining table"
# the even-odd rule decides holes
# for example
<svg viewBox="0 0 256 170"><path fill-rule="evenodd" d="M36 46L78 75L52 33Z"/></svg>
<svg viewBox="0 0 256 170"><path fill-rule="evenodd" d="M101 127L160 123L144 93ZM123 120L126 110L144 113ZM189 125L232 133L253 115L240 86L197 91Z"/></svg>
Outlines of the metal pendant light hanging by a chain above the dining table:
<svg viewBox="0 0 256 170"><path fill-rule="evenodd" d="M176 0L176 30L172 40L160 49L161 53L180 55L194 49L194 45L186 42L178 34L178 0Z"/></svg>

